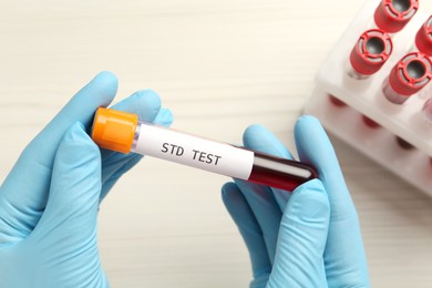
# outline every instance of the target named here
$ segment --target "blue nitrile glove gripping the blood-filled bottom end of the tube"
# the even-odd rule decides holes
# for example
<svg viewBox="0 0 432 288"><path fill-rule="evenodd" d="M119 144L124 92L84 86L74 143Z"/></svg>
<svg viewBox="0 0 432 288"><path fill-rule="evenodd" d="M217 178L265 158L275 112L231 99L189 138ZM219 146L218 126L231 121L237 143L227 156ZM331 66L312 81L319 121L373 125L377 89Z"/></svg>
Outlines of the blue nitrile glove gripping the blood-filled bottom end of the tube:
<svg viewBox="0 0 432 288"><path fill-rule="evenodd" d="M302 116L295 127L301 162L319 179L292 194L235 181L223 199L249 250L250 287L369 287L357 212L335 151L319 122ZM245 146L292 158L267 130L250 126Z"/></svg>

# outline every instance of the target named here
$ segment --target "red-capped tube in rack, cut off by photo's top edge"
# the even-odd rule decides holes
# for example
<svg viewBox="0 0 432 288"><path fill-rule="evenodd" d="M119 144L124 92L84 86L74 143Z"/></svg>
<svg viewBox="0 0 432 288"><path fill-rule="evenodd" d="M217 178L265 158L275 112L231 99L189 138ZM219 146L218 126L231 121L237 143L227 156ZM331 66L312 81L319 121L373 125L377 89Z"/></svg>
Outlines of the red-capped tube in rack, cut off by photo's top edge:
<svg viewBox="0 0 432 288"><path fill-rule="evenodd" d="M382 0L374 12L376 24L388 33L401 31L419 10L419 0Z"/></svg>

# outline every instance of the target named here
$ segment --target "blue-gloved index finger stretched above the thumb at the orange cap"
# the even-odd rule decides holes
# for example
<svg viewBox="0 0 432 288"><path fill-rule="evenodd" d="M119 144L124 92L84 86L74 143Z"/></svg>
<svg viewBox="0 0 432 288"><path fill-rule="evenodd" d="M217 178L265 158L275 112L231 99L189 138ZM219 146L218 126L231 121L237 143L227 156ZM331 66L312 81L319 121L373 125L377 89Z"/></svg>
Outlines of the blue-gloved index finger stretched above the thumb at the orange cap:
<svg viewBox="0 0 432 288"><path fill-rule="evenodd" d="M25 147L0 187L0 244L30 235L45 208L54 155L65 131L75 122L90 125L94 111L107 105L116 90L116 78L100 73Z"/></svg>

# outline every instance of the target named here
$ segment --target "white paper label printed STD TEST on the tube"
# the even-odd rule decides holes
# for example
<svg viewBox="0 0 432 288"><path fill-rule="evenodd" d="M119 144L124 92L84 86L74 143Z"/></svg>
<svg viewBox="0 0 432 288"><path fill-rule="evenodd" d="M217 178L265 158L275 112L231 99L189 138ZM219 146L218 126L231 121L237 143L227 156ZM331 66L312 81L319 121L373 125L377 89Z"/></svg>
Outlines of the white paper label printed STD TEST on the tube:
<svg viewBox="0 0 432 288"><path fill-rule="evenodd" d="M148 124L140 126L133 151L240 179L254 165L251 151Z"/></svg>

